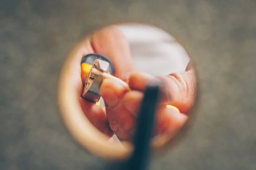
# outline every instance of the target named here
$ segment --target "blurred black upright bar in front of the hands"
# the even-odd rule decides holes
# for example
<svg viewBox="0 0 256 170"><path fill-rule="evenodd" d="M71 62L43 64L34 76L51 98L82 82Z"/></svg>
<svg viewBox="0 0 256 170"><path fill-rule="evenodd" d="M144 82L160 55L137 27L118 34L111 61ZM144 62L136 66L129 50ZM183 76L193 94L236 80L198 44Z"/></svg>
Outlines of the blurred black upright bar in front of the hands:
<svg viewBox="0 0 256 170"><path fill-rule="evenodd" d="M160 82L148 83L137 117L137 130L134 134L134 152L126 164L128 170L146 170L151 155L151 136L157 109Z"/></svg>

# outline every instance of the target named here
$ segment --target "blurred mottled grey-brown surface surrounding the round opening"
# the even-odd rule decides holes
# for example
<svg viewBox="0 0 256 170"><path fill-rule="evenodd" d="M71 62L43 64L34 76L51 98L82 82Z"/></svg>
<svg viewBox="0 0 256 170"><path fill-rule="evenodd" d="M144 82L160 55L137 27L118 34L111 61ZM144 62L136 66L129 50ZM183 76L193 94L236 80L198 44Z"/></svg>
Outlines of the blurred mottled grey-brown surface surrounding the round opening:
<svg viewBox="0 0 256 170"><path fill-rule="evenodd" d="M140 21L186 47L200 83L197 119L152 170L256 169L255 0L1 0L0 169L101 170L65 129L56 82L98 26Z"/></svg>

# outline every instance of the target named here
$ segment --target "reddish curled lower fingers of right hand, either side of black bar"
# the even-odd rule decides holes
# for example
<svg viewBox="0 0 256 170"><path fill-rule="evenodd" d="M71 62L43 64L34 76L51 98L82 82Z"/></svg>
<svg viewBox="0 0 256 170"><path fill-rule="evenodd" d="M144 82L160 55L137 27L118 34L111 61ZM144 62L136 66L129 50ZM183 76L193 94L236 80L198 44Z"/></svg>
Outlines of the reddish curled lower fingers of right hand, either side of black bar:
<svg viewBox="0 0 256 170"><path fill-rule="evenodd" d="M100 95L105 101L108 122L113 132L120 140L131 141L144 96L143 92L128 91L119 82L105 79L100 88ZM186 119L185 114L179 113L175 109L159 108L156 118L156 134L174 134L183 126Z"/></svg>

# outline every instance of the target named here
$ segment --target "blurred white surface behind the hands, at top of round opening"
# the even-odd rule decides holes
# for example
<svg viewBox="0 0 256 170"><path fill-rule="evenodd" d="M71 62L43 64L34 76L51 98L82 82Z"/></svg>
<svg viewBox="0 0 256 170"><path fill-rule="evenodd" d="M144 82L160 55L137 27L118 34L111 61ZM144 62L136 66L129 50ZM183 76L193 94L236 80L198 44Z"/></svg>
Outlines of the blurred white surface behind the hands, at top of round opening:
<svg viewBox="0 0 256 170"><path fill-rule="evenodd" d="M137 71L154 76L184 71L189 56L175 39L160 28L147 25L119 25L130 42Z"/></svg>

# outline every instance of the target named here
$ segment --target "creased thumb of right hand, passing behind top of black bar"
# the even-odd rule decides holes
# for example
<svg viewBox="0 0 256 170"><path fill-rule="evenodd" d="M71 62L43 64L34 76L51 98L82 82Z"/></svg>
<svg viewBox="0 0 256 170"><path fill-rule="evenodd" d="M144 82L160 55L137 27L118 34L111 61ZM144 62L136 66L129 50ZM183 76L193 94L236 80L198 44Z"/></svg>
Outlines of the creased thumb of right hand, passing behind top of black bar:
<svg viewBox="0 0 256 170"><path fill-rule="evenodd" d="M153 77L145 73L133 73L129 85L134 90L143 91L150 80L160 79L164 104L177 107L181 113L187 113L195 102L196 78L193 70L172 73L168 76Z"/></svg>

